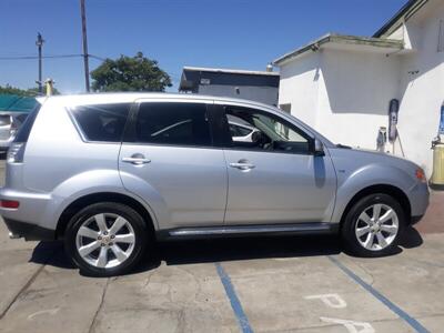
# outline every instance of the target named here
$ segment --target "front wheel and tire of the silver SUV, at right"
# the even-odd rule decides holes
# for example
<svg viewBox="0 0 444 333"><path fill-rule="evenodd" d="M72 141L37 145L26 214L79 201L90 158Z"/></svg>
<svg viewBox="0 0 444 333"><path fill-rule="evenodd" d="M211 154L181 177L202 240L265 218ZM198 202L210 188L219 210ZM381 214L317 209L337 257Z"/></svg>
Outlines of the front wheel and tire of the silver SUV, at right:
<svg viewBox="0 0 444 333"><path fill-rule="evenodd" d="M375 193L353 204L344 219L341 235L352 254L384 256L395 252L405 225L400 202L387 194Z"/></svg>

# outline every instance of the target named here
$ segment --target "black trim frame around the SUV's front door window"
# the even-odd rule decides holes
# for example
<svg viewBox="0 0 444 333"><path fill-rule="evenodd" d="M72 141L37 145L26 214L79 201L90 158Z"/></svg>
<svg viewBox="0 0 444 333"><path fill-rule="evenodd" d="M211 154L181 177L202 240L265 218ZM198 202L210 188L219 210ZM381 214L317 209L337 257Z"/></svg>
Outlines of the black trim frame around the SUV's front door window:
<svg viewBox="0 0 444 333"><path fill-rule="evenodd" d="M221 104L215 104L214 107L220 108L221 109L221 115L222 118L220 119L221 122L225 123L225 129L224 135L221 135L224 138L223 141L220 142L221 147L224 150L233 150L233 151L251 151L251 152L263 152L263 153L278 153L278 154L289 154L289 155L314 155L314 137L311 135L310 133L307 133L306 131L304 131L303 129L300 129L297 125L291 123L290 121L287 121L286 119L279 117L274 113L268 112L266 110L260 109L255 105L248 105L248 104L230 104L230 103L221 103ZM290 129L294 130L297 134L300 134L301 137L303 137L304 139L307 140L309 142L309 151L307 152L287 152L287 151L282 151L282 150L263 150L263 149L251 149L251 148L242 148L242 147L232 147L232 138L230 134L230 128L229 128L229 122L228 122L228 117L226 117L226 112L225 112L225 108L243 108L243 109L250 109L250 110L254 110L255 112L270 117L270 118L274 118L276 120L279 120L280 122L282 122L284 125L287 125Z"/></svg>

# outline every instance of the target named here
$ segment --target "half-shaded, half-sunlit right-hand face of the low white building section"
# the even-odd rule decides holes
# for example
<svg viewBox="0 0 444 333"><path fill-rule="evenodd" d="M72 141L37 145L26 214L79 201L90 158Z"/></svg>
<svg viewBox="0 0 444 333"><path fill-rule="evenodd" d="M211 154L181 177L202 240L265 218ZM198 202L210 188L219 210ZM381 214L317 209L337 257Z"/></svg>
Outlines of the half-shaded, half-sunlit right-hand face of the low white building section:
<svg viewBox="0 0 444 333"><path fill-rule="evenodd" d="M389 104L398 98L398 60L383 53L322 53L315 128L333 142L376 149Z"/></svg>

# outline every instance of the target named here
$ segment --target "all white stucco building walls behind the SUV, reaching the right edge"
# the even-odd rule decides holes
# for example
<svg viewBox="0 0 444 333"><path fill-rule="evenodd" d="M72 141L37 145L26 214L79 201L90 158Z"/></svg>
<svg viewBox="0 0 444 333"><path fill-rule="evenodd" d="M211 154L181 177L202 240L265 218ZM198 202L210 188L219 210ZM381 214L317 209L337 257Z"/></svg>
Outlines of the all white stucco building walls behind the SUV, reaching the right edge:
<svg viewBox="0 0 444 333"><path fill-rule="evenodd" d="M430 176L430 147L444 101L444 52L437 51L440 20L444 20L444 2L432 0L392 34L403 36L406 50L389 57L323 48L284 63L279 103L292 103L292 114L333 142L375 149L379 128L389 127L390 100L398 99L404 154ZM403 154L400 141L394 148L386 144L386 150L393 149Z"/></svg>

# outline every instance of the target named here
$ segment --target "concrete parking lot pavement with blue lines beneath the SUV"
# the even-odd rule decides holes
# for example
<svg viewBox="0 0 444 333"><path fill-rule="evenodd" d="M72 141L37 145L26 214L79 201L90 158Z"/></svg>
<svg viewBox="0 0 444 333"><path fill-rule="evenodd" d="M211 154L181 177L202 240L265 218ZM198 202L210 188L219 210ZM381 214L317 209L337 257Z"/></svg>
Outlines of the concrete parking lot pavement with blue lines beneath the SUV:
<svg viewBox="0 0 444 333"><path fill-rule="evenodd" d="M442 332L444 233L424 223L383 259L331 236L176 242L111 279L0 223L0 332Z"/></svg>

